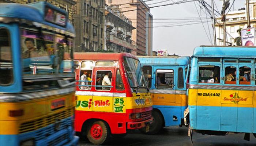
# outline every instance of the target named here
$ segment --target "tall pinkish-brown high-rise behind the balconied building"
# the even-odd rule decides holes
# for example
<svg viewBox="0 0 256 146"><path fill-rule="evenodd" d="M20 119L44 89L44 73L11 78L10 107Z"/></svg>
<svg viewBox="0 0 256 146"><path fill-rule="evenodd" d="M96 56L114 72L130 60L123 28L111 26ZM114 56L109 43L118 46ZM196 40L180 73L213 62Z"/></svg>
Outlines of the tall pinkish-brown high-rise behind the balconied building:
<svg viewBox="0 0 256 146"><path fill-rule="evenodd" d="M137 55L152 55L153 15L142 0L106 0L108 5L119 5L122 12L132 21L136 29L132 31L132 40L137 44Z"/></svg>

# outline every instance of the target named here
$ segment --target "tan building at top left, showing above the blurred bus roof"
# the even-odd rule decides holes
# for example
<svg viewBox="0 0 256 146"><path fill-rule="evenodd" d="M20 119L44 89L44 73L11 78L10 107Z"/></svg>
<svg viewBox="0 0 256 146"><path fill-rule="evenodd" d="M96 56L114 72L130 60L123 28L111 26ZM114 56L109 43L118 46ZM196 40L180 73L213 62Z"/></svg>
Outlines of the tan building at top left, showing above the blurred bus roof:
<svg viewBox="0 0 256 146"><path fill-rule="evenodd" d="M50 4L53 4L61 9L64 9L68 12L69 20L72 20L74 14L76 13L76 0L0 0L0 3L28 4L37 1L47 1Z"/></svg>

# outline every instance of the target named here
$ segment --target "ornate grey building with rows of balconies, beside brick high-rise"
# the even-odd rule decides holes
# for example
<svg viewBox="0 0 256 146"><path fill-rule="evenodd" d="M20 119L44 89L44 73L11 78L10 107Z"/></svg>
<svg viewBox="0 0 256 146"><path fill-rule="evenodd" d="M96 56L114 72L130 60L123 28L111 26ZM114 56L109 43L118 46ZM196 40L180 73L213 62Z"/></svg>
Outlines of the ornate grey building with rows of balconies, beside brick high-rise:
<svg viewBox="0 0 256 146"><path fill-rule="evenodd" d="M131 20L124 16L118 5L106 5L106 49L114 52L135 53L136 45L131 40Z"/></svg>

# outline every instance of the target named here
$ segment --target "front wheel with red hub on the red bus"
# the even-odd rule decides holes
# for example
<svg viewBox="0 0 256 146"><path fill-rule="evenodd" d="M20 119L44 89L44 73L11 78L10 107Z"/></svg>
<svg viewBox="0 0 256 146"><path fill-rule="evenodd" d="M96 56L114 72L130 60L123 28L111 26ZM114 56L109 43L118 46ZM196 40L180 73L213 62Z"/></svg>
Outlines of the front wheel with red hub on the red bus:
<svg viewBox="0 0 256 146"><path fill-rule="evenodd" d="M108 126L103 121L96 121L87 130L87 138L94 145L101 145L109 137Z"/></svg>

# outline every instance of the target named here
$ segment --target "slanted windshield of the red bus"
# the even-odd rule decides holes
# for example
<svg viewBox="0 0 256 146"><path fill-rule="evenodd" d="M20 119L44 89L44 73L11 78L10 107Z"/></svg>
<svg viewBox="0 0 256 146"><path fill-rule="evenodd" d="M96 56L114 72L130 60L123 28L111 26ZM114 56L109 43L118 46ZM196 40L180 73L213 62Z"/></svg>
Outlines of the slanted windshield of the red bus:
<svg viewBox="0 0 256 146"><path fill-rule="evenodd" d="M124 57L124 67L132 88L147 87L140 62L137 59Z"/></svg>

